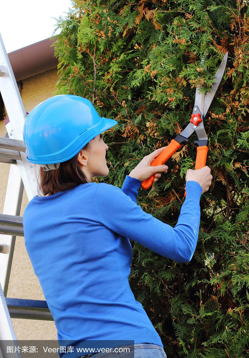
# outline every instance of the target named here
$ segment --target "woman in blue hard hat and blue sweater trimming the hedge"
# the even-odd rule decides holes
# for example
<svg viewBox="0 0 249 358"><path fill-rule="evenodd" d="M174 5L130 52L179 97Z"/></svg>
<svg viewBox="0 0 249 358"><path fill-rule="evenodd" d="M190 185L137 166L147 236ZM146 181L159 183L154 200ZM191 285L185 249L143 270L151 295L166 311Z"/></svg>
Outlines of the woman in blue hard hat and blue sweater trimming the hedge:
<svg viewBox="0 0 249 358"><path fill-rule="evenodd" d="M157 181L158 172L167 172L162 165L150 166L164 148L145 156L126 175L122 189L91 182L94 176L108 175L108 146L101 134L116 124L100 118L89 100L73 95L48 98L24 123L26 158L41 167L42 192L24 211L25 246L63 358L166 358L159 335L130 289L129 238L163 257L190 261L198 238L200 196L211 184L208 167L187 171L186 199L172 228L137 205L141 182L153 173Z"/></svg>

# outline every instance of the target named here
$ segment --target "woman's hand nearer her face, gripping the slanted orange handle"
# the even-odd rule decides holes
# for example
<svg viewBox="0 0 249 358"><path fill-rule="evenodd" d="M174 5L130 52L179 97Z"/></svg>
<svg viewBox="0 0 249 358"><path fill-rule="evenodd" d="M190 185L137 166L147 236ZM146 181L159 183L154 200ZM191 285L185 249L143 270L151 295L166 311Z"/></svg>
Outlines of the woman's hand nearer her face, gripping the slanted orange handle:
<svg viewBox="0 0 249 358"><path fill-rule="evenodd" d="M161 147L159 149L154 150L151 154L146 155L145 157L143 157L143 159L141 160L140 163L138 163L138 165L132 169L131 173L129 174L129 176L131 176L132 178L136 178L141 180L141 182L143 182L143 180L146 180L148 178L150 178L150 176L152 174L155 174L155 178L154 178L154 182L157 182L157 180L159 178L161 178L161 173L159 173L160 171L162 171L163 173L167 173L167 170L169 169L167 165L157 165L157 166L151 166L151 162L153 161L153 159L155 159L166 147Z"/></svg>

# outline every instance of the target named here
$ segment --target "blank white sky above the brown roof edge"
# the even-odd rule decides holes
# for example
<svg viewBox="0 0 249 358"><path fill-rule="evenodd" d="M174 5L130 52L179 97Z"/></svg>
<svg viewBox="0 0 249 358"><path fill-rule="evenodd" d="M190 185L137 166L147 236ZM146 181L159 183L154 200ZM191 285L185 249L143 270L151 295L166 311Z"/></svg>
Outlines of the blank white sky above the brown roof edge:
<svg viewBox="0 0 249 358"><path fill-rule="evenodd" d="M1 0L0 34L7 53L51 37L53 18L64 18L69 8L71 0Z"/></svg>

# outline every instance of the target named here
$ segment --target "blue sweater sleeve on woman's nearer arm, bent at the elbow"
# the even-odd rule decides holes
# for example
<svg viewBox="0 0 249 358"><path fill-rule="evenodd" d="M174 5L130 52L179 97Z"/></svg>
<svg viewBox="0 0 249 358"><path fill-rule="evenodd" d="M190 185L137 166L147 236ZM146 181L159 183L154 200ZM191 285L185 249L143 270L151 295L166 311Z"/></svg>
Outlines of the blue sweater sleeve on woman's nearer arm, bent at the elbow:
<svg viewBox="0 0 249 358"><path fill-rule="evenodd" d="M186 182L186 198L174 228L144 212L130 196L111 184L97 185L95 205L102 225L163 257L189 262L198 239L201 192L199 183Z"/></svg>

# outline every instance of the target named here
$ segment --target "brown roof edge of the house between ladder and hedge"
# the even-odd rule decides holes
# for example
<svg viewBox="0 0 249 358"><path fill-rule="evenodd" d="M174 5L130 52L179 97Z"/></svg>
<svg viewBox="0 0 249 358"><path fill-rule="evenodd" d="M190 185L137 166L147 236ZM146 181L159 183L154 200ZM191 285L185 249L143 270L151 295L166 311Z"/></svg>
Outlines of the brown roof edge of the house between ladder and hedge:
<svg viewBox="0 0 249 358"><path fill-rule="evenodd" d="M48 38L8 53L16 81L57 68L58 59L54 57L54 47L51 47L56 39Z"/></svg>

